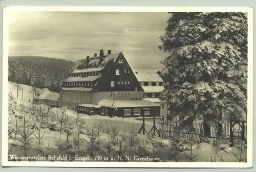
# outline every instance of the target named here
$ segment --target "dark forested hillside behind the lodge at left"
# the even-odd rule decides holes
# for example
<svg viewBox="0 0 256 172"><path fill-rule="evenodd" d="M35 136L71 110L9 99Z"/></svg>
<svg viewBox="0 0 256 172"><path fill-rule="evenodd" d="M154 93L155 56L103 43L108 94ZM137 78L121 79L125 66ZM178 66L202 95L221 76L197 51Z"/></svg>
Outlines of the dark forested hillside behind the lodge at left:
<svg viewBox="0 0 256 172"><path fill-rule="evenodd" d="M8 80L37 88L49 88L58 92L74 62L37 56L11 56L8 64Z"/></svg>

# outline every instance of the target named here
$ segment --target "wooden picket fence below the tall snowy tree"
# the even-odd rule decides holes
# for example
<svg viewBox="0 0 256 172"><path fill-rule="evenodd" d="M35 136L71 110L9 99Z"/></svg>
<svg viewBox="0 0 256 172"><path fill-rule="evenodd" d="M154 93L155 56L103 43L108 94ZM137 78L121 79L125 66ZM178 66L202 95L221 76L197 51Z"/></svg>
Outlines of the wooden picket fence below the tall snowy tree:
<svg viewBox="0 0 256 172"><path fill-rule="evenodd" d="M195 122L193 125L185 126L183 128L180 128L180 126L177 123L173 122L157 122L156 126L159 130L160 137L163 139L166 139L171 136L179 135L183 137L190 138L191 140L200 143L203 136L203 122ZM245 128L246 131L246 128ZM217 133L218 129L216 126L212 125L210 126L210 138L213 142L217 141ZM233 128L233 140L237 140L238 138L241 138L242 135L242 129L240 127ZM230 139L230 124L229 123L223 123L222 124L222 134L225 139ZM245 132L245 139L246 139L246 132Z"/></svg>

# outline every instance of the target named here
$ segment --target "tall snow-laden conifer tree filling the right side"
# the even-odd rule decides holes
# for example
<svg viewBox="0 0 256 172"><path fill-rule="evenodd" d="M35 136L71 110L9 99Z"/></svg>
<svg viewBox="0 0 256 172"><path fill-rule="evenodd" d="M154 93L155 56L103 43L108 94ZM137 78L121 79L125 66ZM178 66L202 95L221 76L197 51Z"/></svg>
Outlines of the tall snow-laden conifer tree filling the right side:
<svg viewBox="0 0 256 172"><path fill-rule="evenodd" d="M168 53L161 100L180 118L221 126L222 114L246 113L247 15L169 13L159 49ZM235 116L238 118L239 116Z"/></svg>

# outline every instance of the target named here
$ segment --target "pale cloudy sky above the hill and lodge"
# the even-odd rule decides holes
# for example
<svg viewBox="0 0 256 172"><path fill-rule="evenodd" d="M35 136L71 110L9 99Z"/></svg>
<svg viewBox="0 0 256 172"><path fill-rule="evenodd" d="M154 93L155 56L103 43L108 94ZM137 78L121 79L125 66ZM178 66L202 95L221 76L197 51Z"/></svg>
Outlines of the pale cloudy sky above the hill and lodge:
<svg viewBox="0 0 256 172"><path fill-rule="evenodd" d="M131 67L161 69L158 49L168 13L24 12L10 15L9 56L45 56L71 61L112 50Z"/></svg>

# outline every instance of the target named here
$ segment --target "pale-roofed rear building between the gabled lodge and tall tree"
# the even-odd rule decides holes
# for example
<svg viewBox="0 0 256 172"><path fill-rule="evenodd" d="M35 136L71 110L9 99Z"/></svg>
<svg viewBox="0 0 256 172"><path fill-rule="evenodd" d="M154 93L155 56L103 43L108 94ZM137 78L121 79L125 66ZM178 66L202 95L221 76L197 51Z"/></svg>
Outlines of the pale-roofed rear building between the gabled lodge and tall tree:
<svg viewBox="0 0 256 172"><path fill-rule="evenodd" d="M164 89L163 80L158 75L159 70L133 69L133 71L144 90L143 100L155 102L161 105L160 115L166 117L167 103L166 101L161 101L159 99L159 93Z"/></svg>

